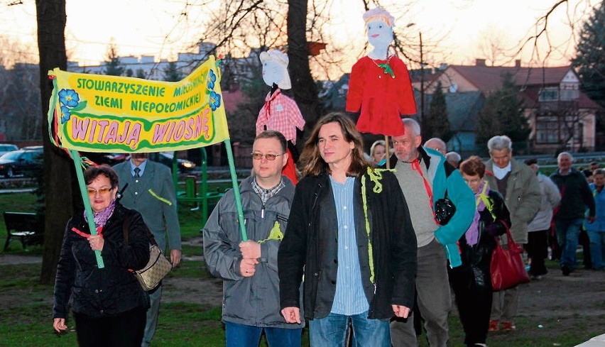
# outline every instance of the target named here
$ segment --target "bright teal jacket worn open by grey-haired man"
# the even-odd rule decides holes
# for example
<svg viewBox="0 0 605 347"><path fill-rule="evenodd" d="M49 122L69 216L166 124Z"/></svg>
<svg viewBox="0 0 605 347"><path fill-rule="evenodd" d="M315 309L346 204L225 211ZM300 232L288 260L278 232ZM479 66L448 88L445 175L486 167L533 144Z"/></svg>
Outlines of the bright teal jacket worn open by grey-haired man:
<svg viewBox="0 0 605 347"><path fill-rule="evenodd" d="M432 182L433 211L435 202L445 197L456 206L456 212L445 226L438 226L435 238L445 248L449 267L456 268L462 265L457 241L471 225L475 215L475 195L468 184L462 180L462 175L452 165L447 163L445 157L430 148L419 147L420 160L427 169L427 176ZM397 157L391 156L391 167L397 164ZM408 197L408 204L413 204L414 198Z"/></svg>

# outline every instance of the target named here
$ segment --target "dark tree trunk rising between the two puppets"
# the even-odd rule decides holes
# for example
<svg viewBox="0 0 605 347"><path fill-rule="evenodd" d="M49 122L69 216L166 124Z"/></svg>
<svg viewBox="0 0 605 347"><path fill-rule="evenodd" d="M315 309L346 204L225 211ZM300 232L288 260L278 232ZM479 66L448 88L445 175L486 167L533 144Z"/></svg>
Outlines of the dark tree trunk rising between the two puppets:
<svg viewBox="0 0 605 347"><path fill-rule="evenodd" d="M288 0L288 70L292 80L294 99L305 118L305 136L320 117L317 86L309 67L307 47L307 0ZM302 141L298 141L299 148Z"/></svg>

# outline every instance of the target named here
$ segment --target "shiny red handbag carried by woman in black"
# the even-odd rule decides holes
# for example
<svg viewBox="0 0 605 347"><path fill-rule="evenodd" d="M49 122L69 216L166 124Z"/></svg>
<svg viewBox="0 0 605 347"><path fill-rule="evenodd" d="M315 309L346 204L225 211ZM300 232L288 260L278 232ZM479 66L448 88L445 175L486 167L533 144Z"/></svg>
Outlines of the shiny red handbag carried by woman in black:
<svg viewBox="0 0 605 347"><path fill-rule="evenodd" d="M525 271L525 264L521 258L523 248L515 243L511 230L508 228L506 228L506 237L508 238L508 249L503 249L496 238L496 248L491 255L489 270L491 287L494 288L494 292L529 282L528 272Z"/></svg>

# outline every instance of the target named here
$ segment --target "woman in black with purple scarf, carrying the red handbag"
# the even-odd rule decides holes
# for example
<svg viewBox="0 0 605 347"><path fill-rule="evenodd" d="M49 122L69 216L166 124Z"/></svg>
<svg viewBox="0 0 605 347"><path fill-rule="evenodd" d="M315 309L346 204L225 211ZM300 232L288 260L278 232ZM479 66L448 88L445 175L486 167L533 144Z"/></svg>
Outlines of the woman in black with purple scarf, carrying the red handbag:
<svg viewBox="0 0 605 347"><path fill-rule="evenodd" d="M495 236L511 227L511 216L500 193L483 180L485 165L473 155L459 167L475 194L475 216L458 241L462 265L449 272L467 346L485 346L491 312L491 253Z"/></svg>

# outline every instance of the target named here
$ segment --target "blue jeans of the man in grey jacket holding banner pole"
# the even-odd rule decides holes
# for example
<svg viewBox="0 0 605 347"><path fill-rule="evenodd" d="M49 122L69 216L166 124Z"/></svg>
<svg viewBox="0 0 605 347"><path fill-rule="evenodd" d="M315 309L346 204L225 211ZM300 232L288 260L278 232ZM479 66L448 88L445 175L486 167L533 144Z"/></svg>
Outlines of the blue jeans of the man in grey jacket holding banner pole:
<svg viewBox="0 0 605 347"><path fill-rule="evenodd" d="M273 347L300 347L302 329L261 328L245 324L225 322L225 335L227 347L258 347L261 334L265 329L265 336L269 346Z"/></svg>

